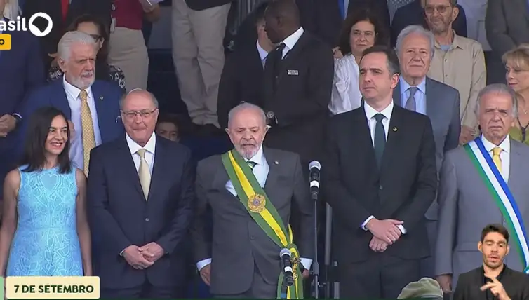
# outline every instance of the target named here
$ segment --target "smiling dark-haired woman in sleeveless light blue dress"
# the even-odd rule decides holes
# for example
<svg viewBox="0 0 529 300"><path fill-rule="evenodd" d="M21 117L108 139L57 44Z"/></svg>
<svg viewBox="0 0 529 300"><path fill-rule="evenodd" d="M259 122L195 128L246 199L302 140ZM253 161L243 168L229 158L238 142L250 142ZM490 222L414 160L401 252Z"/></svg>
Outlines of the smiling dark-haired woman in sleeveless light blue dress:
<svg viewBox="0 0 529 300"><path fill-rule="evenodd" d="M92 275L86 179L69 161L69 124L44 107L29 120L23 163L6 176L0 275Z"/></svg>

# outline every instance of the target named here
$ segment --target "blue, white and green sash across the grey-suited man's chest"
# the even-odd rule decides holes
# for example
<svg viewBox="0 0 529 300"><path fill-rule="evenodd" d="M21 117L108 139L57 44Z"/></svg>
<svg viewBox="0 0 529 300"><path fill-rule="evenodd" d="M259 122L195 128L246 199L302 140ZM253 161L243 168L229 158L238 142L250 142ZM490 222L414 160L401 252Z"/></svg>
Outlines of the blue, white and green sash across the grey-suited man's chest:
<svg viewBox="0 0 529 300"><path fill-rule="evenodd" d="M483 183L487 187L490 195L497 207L502 212L505 221L507 222L507 229L511 235L512 240L516 243L516 249L520 254L520 259L523 265L523 272L529 274L529 243L527 239L527 231L523 225L521 213L516 205L516 200L512 196L507 182L500 174L490 154L483 146L481 137L474 139L464 145L464 150L467 152L470 160L478 170L478 173L483 179Z"/></svg>

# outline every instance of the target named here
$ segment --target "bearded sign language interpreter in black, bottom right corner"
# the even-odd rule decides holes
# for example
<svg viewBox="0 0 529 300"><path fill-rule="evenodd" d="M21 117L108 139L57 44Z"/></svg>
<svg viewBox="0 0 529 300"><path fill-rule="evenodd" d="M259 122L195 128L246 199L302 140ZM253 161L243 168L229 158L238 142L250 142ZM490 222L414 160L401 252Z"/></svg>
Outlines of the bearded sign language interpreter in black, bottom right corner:
<svg viewBox="0 0 529 300"><path fill-rule="evenodd" d="M460 275L454 300L529 299L528 275L504 264L510 250L509 231L504 226L487 225L481 232L478 250L483 254L483 266Z"/></svg>

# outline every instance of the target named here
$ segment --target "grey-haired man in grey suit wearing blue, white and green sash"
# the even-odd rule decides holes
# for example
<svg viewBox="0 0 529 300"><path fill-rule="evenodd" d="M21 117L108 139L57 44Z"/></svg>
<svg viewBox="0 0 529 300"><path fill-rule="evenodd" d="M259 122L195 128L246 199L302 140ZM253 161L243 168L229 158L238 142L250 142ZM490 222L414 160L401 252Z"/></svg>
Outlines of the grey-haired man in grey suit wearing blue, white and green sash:
<svg viewBox="0 0 529 300"><path fill-rule="evenodd" d="M514 249L505 263L529 273L529 147L509 139L517 113L511 88L486 86L476 107L482 135L445 156L435 257L437 280L445 292L452 291L460 274L482 264L476 243L491 222L509 230Z"/></svg>

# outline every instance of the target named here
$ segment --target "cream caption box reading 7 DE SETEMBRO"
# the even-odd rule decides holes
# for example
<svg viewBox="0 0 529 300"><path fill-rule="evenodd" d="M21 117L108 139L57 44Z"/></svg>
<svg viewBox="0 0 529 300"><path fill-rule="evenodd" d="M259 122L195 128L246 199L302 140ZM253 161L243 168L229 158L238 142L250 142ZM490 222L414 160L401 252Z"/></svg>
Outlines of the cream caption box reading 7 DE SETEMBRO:
<svg viewBox="0 0 529 300"><path fill-rule="evenodd" d="M99 277L8 277L8 299L99 299Z"/></svg>

